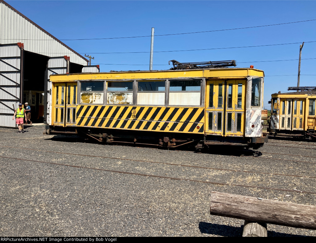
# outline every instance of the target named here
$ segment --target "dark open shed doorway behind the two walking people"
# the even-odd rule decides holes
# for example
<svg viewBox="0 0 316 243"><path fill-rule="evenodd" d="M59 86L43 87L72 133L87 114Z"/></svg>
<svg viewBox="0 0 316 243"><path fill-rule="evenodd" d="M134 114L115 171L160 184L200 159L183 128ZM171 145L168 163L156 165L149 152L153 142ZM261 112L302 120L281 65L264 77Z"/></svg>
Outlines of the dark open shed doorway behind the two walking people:
<svg viewBox="0 0 316 243"><path fill-rule="evenodd" d="M24 51L23 105L31 107L31 121L43 123L44 83L48 56Z"/></svg>

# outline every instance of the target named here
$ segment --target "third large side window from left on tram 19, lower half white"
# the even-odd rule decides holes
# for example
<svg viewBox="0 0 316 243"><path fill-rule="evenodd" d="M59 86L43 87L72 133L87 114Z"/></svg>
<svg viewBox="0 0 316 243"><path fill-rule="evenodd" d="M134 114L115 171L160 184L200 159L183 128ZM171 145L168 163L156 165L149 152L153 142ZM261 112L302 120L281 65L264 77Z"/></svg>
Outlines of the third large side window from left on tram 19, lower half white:
<svg viewBox="0 0 316 243"><path fill-rule="evenodd" d="M138 81L137 104L164 105L165 81Z"/></svg>

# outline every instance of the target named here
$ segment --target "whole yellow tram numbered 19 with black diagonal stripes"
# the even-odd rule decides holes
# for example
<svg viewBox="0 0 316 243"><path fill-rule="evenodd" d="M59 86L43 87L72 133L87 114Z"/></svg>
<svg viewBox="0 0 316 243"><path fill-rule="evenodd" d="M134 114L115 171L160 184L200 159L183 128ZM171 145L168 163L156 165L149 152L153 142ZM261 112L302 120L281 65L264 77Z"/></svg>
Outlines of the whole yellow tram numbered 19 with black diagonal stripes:
<svg viewBox="0 0 316 243"><path fill-rule="evenodd" d="M176 147L258 147L264 72L202 68L51 75L46 134Z"/></svg>

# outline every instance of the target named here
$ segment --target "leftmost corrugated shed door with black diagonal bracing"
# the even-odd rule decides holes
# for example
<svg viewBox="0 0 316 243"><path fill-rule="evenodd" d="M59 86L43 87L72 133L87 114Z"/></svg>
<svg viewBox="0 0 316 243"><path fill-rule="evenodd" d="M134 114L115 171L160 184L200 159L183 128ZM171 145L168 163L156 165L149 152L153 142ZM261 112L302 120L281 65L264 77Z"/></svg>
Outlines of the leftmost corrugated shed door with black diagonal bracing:
<svg viewBox="0 0 316 243"><path fill-rule="evenodd" d="M20 102L20 83L20 47L0 45L0 126L15 127L12 117Z"/></svg>

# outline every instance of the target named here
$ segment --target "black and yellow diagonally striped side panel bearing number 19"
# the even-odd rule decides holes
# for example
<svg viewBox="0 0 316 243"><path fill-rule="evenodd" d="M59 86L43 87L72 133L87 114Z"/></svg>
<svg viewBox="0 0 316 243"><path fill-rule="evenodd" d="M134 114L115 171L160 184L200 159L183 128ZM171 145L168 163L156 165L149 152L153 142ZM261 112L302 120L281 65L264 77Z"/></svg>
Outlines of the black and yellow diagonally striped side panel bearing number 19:
<svg viewBox="0 0 316 243"><path fill-rule="evenodd" d="M204 133L204 108L78 105L78 127Z"/></svg>

